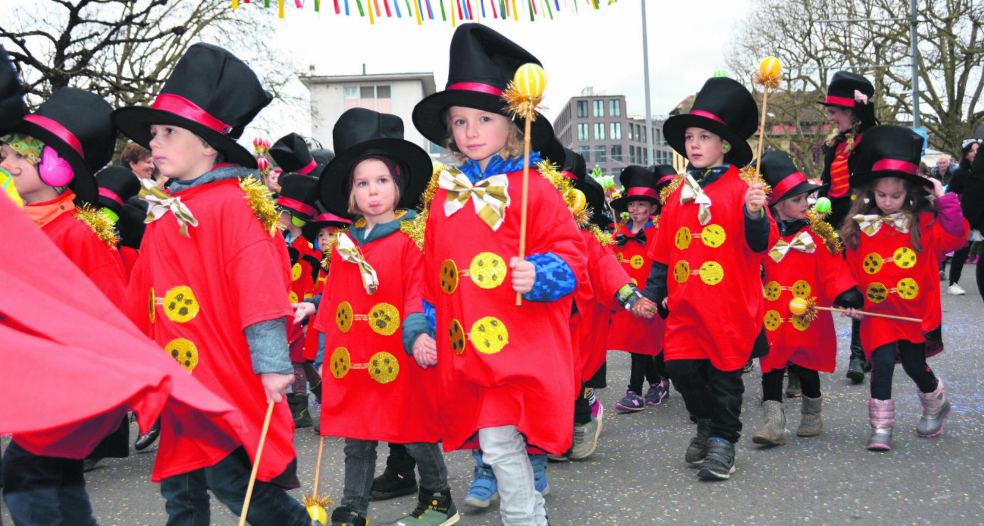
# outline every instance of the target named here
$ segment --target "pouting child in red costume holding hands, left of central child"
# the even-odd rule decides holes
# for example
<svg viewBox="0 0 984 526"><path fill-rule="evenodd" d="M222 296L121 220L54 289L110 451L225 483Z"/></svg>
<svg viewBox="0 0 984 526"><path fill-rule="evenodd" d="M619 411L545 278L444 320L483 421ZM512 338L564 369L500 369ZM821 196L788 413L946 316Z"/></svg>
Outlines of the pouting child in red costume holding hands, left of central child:
<svg viewBox="0 0 984 526"><path fill-rule="evenodd" d="M353 108L333 132L320 182L328 209L360 216L338 232L315 328L325 333L321 433L345 438L344 497L333 525L365 526L378 440L403 443L420 471L416 508L398 524L458 522L437 424L437 365L421 303L423 254L411 234L432 170L400 117ZM399 208L398 208L399 207Z"/></svg>

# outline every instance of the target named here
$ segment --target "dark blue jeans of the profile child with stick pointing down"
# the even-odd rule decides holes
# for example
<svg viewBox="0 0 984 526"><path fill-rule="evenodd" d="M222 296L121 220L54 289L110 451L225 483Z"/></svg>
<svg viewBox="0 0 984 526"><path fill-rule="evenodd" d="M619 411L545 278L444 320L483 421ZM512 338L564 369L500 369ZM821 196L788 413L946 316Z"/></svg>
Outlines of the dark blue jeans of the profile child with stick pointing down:
<svg viewBox="0 0 984 526"><path fill-rule="evenodd" d="M214 466L160 481L167 501L167 526L209 526L209 490L236 515L242 511L252 470L246 449L239 447ZM247 521L253 526L310 526L311 517L277 485L256 481Z"/></svg>

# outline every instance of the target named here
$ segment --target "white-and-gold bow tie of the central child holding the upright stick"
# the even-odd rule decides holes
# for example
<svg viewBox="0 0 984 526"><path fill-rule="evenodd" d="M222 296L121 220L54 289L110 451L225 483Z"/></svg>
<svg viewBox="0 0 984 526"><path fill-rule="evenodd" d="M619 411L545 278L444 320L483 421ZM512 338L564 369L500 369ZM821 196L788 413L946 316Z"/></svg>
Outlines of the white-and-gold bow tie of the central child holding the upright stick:
<svg viewBox="0 0 984 526"><path fill-rule="evenodd" d="M493 175L471 184L461 171L454 168L441 172L438 186L448 191L444 202L444 214L451 217L471 200L475 213L492 230L498 230L506 220L506 206L509 206L509 177L506 174Z"/></svg>

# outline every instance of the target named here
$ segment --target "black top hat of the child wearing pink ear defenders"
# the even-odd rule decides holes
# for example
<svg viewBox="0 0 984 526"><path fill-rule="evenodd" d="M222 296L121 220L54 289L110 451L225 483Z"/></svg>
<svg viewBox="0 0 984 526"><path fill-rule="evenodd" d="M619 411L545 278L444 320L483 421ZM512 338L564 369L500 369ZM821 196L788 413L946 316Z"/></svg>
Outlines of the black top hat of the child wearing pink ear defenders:
<svg viewBox="0 0 984 526"><path fill-rule="evenodd" d="M61 88L14 131L54 148L75 173L68 187L79 200L95 203L92 175L109 162L116 146L116 130L109 120L112 111L112 106L95 93Z"/></svg>

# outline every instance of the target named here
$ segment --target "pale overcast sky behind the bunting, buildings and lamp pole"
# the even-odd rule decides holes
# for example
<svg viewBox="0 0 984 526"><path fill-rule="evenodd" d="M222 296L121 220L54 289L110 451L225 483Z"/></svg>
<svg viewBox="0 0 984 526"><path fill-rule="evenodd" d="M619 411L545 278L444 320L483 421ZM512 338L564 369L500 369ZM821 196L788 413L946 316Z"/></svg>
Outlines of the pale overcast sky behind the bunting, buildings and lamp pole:
<svg viewBox="0 0 984 526"><path fill-rule="evenodd" d="M543 63L548 76L544 113L551 121L568 98L585 87L625 94L627 113L645 113L639 0L620 0L596 11L586 9L584 0L578 1L580 13L575 14L564 8L561 0L562 12L552 21L529 22L527 17L523 22L521 11L520 22L482 19L482 23L519 42ZM313 0L306 2L313 5ZM314 66L316 75L359 74L362 64L370 74L433 72L438 89L444 88L448 46L454 32L450 21L425 21L417 26L405 18L384 17L370 26L368 18L335 15L332 0L322 0L321 14L311 7L297 11L293 2L287 3L285 19L278 21L277 33L266 42L271 52L289 50L304 69ZM350 4L354 10L354 0ZM438 0L431 0L431 5L440 9ZM486 10L488 6L486 2ZM258 9L256 4L243 7ZM276 9L268 11L271 17L277 16ZM747 11L746 0L646 2L653 115L666 114L683 97L701 88L715 69L724 66L723 49L731 39L733 24ZM763 57L768 54L764 51ZM307 95L299 82L291 89ZM271 110L278 112L278 108ZM271 119L282 121L271 123L272 139L290 131L310 133L307 116L291 109L283 111L290 116Z"/></svg>

